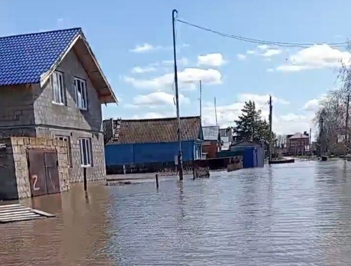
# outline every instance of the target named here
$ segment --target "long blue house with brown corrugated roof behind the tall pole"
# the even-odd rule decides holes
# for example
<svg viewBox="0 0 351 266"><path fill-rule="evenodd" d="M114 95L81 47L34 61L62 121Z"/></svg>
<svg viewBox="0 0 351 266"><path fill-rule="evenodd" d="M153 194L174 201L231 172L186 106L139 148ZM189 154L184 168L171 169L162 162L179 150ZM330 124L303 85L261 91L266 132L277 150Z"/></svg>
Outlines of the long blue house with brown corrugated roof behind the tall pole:
<svg viewBox="0 0 351 266"><path fill-rule="evenodd" d="M174 162L179 151L177 119L105 120L107 166ZM201 159L200 117L182 117L183 161Z"/></svg>

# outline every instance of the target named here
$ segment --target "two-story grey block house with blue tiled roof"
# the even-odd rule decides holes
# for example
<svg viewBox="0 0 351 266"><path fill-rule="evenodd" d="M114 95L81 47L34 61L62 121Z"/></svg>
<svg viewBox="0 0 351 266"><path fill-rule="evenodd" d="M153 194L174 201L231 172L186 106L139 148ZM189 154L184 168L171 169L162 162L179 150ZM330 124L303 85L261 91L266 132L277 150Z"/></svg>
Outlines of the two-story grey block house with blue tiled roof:
<svg viewBox="0 0 351 266"><path fill-rule="evenodd" d="M101 104L117 102L80 28L0 38L0 138L68 144L70 182L106 176Z"/></svg>

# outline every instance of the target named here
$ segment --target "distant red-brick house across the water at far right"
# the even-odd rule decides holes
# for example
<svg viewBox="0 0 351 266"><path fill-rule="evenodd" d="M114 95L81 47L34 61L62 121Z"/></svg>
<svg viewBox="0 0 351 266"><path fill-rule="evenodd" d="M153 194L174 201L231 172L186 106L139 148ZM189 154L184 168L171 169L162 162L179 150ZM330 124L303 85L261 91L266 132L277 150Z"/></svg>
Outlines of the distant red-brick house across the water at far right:
<svg viewBox="0 0 351 266"><path fill-rule="evenodd" d="M286 136L286 152L289 155L304 155L309 151L309 136L307 132Z"/></svg>

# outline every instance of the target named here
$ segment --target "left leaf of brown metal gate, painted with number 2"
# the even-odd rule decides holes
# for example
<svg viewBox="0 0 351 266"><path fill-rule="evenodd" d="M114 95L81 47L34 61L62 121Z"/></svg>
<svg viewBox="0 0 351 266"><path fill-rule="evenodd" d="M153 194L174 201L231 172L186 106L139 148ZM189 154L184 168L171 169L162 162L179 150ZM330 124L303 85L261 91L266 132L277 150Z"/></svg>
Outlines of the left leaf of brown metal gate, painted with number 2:
<svg viewBox="0 0 351 266"><path fill-rule="evenodd" d="M43 150L28 150L29 183L31 195L47 194L47 178Z"/></svg>

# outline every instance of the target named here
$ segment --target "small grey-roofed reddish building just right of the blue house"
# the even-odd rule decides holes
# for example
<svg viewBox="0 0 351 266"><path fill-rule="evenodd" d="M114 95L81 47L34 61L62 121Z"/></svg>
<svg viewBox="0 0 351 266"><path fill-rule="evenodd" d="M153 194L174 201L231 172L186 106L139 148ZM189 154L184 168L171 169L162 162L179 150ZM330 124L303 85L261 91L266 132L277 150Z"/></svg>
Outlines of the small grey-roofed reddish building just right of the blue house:
<svg viewBox="0 0 351 266"><path fill-rule="evenodd" d="M215 158L216 153L221 151L221 138L219 126L203 126L204 143L202 143L203 158Z"/></svg>

